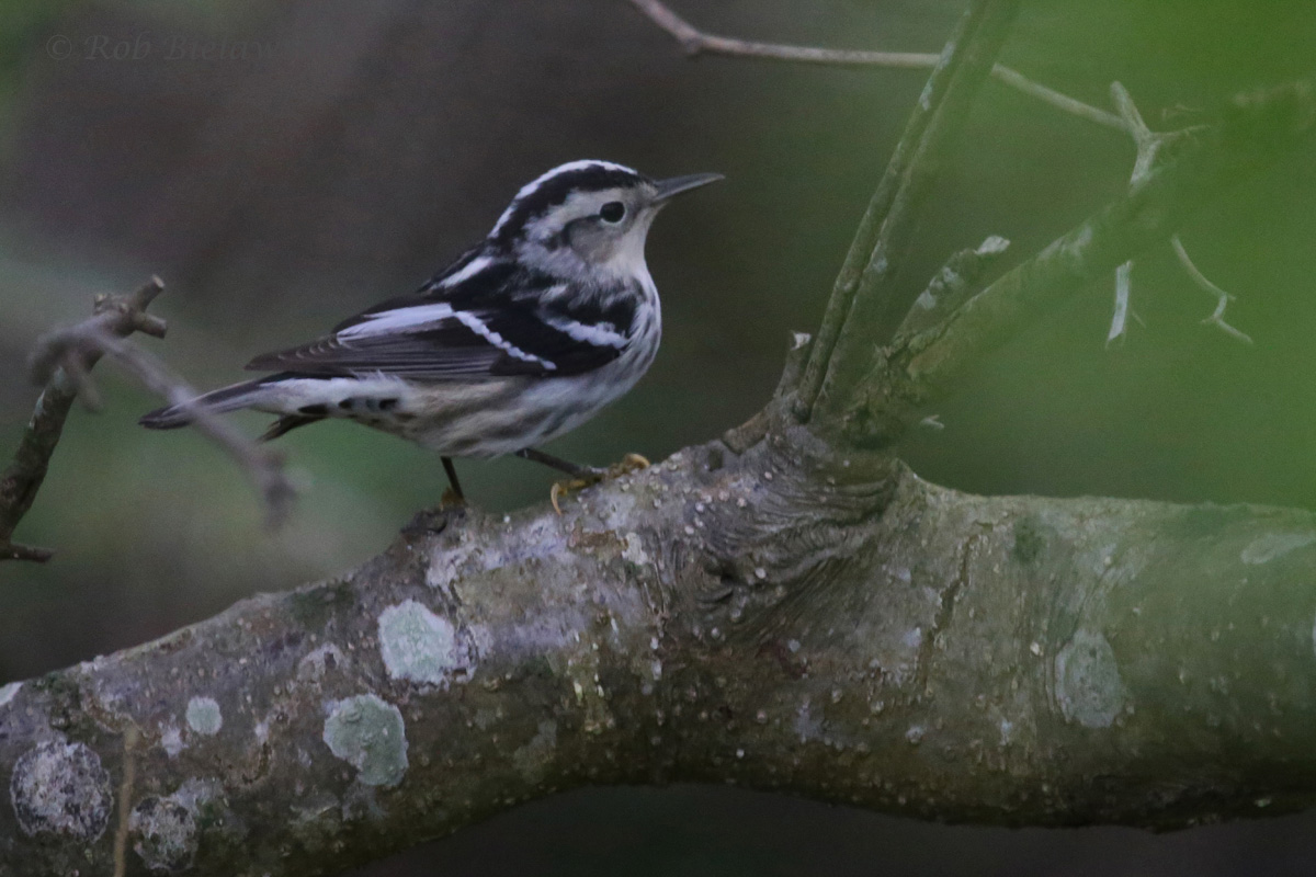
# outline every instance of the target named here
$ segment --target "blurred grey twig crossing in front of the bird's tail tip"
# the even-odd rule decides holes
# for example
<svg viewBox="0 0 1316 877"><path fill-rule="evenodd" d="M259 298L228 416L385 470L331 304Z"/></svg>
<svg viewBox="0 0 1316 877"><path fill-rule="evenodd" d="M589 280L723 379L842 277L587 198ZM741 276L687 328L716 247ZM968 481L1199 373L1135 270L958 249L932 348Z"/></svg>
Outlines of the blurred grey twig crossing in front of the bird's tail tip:
<svg viewBox="0 0 1316 877"><path fill-rule="evenodd" d="M296 490L283 473L283 456L271 448L255 444L208 408L197 405L193 401L196 391L155 356L116 338L105 331L104 326L88 321L47 335L33 362L37 367L50 368L55 362L78 362L101 355L113 359L146 389L170 405L182 408L192 426L232 456L255 484L265 501L270 526L278 527L284 521Z"/></svg>

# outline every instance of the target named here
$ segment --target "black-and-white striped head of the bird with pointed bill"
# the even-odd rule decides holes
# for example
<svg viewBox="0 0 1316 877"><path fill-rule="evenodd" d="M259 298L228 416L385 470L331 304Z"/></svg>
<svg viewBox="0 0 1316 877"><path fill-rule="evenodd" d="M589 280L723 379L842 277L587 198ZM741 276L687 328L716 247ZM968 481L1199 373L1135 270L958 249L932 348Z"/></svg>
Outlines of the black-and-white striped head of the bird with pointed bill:
<svg viewBox="0 0 1316 877"><path fill-rule="evenodd" d="M632 277L646 271L645 237L658 210L720 179L692 174L653 180L612 162L570 162L524 185L490 241L553 273Z"/></svg>

